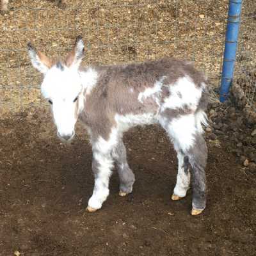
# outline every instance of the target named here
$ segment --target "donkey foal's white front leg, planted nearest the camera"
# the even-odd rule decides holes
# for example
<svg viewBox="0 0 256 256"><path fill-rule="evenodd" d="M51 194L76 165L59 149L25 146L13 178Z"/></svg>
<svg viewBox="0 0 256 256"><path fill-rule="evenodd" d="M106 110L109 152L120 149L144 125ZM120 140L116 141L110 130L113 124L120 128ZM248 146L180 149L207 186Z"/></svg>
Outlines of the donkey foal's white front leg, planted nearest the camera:
<svg viewBox="0 0 256 256"><path fill-rule="evenodd" d="M113 157L110 153L102 153L93 150L92 170L94 174L93 194L88 202L86 210L95 212L101 208L109 195L109 178L113 168Z"/></svg>

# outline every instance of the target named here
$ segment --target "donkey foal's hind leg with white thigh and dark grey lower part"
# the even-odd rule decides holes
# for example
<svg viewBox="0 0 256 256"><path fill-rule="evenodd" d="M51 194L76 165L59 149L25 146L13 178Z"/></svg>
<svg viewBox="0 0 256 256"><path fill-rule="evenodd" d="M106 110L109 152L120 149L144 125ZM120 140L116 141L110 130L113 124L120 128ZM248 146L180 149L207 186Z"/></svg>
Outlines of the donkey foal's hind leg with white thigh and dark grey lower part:
<svg viewBox="0 0 256 256"><path fill-rule="evenodd" d="M202 130L198 129L197 120L195 119L195 115L191 114L173 118L167 123L164 119L164 122L162 122L164 129L173 140L175 150L177 152L181 151L185 156L185 161L188 159L191 166L193 189L191 214L193 215L200 214L205 209L205 166L207 160L207 147L200 133Z"/></svg>

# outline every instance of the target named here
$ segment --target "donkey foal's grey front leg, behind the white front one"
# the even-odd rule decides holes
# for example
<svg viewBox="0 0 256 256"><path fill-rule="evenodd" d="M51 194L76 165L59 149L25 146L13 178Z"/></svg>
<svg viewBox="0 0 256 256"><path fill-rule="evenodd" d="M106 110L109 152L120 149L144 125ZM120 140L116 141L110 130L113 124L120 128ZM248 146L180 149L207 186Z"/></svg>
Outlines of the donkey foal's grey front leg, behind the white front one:
<svg viewBox="0 0 256 256"><path fill-rule="evenodd" d="M125 196L132 192L132 185L134 184L135 177L127 163L126 149L123 141L119 141L117 147L113 149L112 156L118 167L118 175L120 179L119 195Z"/></svg>

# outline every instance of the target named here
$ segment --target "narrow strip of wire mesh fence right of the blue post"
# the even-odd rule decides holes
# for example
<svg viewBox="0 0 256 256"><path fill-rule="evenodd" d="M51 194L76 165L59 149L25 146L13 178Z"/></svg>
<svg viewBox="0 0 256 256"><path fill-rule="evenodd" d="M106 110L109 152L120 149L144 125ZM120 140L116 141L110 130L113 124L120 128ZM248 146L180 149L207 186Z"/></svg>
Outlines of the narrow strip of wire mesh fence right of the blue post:
<svg viewBox="0 0 256 256"><path fill-rule="evenodd" d="M243 1L236 60L235 83L241 86L247 104L256 109L256 5L252 0Z"/></svg>

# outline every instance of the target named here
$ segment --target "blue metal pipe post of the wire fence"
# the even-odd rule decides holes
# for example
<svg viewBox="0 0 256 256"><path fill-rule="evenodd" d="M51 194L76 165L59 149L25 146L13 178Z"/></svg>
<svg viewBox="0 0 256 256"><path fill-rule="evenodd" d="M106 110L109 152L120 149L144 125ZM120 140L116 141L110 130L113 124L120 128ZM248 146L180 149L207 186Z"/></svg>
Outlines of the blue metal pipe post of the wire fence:
<svg viewBox="0 0 256 256"><path fill-rule="evenodd" d="M243 0L229 0L225 51L220 86L220 102L224 102L227 99L234 75L242 2Z"/></svg>

